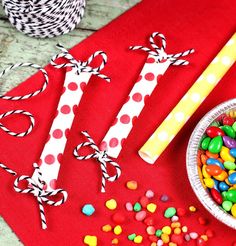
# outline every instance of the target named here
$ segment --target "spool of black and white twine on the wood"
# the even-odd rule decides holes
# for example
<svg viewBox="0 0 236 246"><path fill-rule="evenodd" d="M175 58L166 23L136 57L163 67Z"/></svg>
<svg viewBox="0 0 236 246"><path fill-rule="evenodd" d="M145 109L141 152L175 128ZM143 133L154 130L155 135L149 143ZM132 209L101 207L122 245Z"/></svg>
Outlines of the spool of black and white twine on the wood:
<svg viewBox="0 0 236 246"><path fill-rule="evenodd" d="M2 0L2 4L13 26L39 38L70 32L85 9L85 0Z"/></svg>

